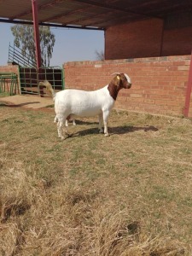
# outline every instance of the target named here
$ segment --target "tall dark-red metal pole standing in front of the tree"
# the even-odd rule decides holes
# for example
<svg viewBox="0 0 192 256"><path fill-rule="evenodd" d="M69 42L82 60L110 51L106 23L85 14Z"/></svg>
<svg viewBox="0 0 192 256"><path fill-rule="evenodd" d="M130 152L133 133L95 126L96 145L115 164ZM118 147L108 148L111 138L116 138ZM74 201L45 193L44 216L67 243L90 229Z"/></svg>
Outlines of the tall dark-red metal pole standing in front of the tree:
<svg viewBox="0 0 192 256"><path fill-rule="evenodd" d="M38 30L38 0L32 0L32 19L35 37L35 48L36 48L36 63L37 68L41 67L41 49L40 49L40 38Z"/></svg>

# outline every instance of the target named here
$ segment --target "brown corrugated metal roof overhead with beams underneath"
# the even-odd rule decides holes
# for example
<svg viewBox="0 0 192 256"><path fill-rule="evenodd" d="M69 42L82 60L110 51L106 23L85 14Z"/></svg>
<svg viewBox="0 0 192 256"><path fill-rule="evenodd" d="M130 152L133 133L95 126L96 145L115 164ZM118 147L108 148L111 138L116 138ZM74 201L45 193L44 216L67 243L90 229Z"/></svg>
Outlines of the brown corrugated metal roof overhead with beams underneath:
<svg viewBox="0 0 192 256"><path fill-rule="evenodd" d="M192 10L191 0L38 0L40 25L106 29L146 18L166 19ZM32 23L32 1L1 0L0 21Z"/></svg>

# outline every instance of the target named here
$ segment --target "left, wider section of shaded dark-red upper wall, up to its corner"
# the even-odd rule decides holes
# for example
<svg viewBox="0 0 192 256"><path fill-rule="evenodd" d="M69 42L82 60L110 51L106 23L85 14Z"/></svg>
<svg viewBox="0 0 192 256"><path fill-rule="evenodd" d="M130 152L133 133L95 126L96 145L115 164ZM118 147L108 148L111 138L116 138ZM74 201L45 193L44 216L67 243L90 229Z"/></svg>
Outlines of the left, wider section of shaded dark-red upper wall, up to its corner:
<svg viewBox="0 0 192 256"><path fill-rule="evenodd" d="M142 20L111 26L105 32L106 60L160 55L162 20Z"/></svg>

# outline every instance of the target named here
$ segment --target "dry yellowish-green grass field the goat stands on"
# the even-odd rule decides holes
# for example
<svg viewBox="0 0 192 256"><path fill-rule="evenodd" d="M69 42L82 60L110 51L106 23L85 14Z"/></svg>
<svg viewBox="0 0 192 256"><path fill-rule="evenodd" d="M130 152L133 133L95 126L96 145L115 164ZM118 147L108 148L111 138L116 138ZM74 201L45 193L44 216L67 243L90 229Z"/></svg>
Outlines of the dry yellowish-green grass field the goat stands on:
<svg viewBox="0 0 192 256"><path fill-rule="evenodd" d="M0 104L0 255L192 255L192 121L54 117Z"/></svg>

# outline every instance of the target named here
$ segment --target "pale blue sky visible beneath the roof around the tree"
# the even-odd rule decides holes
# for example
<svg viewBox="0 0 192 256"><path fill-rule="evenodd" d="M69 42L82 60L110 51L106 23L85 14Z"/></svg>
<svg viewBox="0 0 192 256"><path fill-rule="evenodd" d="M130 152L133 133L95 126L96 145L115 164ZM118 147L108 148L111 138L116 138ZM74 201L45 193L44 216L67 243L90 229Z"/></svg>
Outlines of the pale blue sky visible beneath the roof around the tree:
<svg viewBox="0 0 192 256"><path fill-rule="evenodd" d="M14 24L0 23L0 66L7 65L9 44L14 46L10 27ZM67 61L94 61L96 50L104 51L104 32L82 29L51 28L55 34L55 46L50 66L62 66Z"/></svg>

